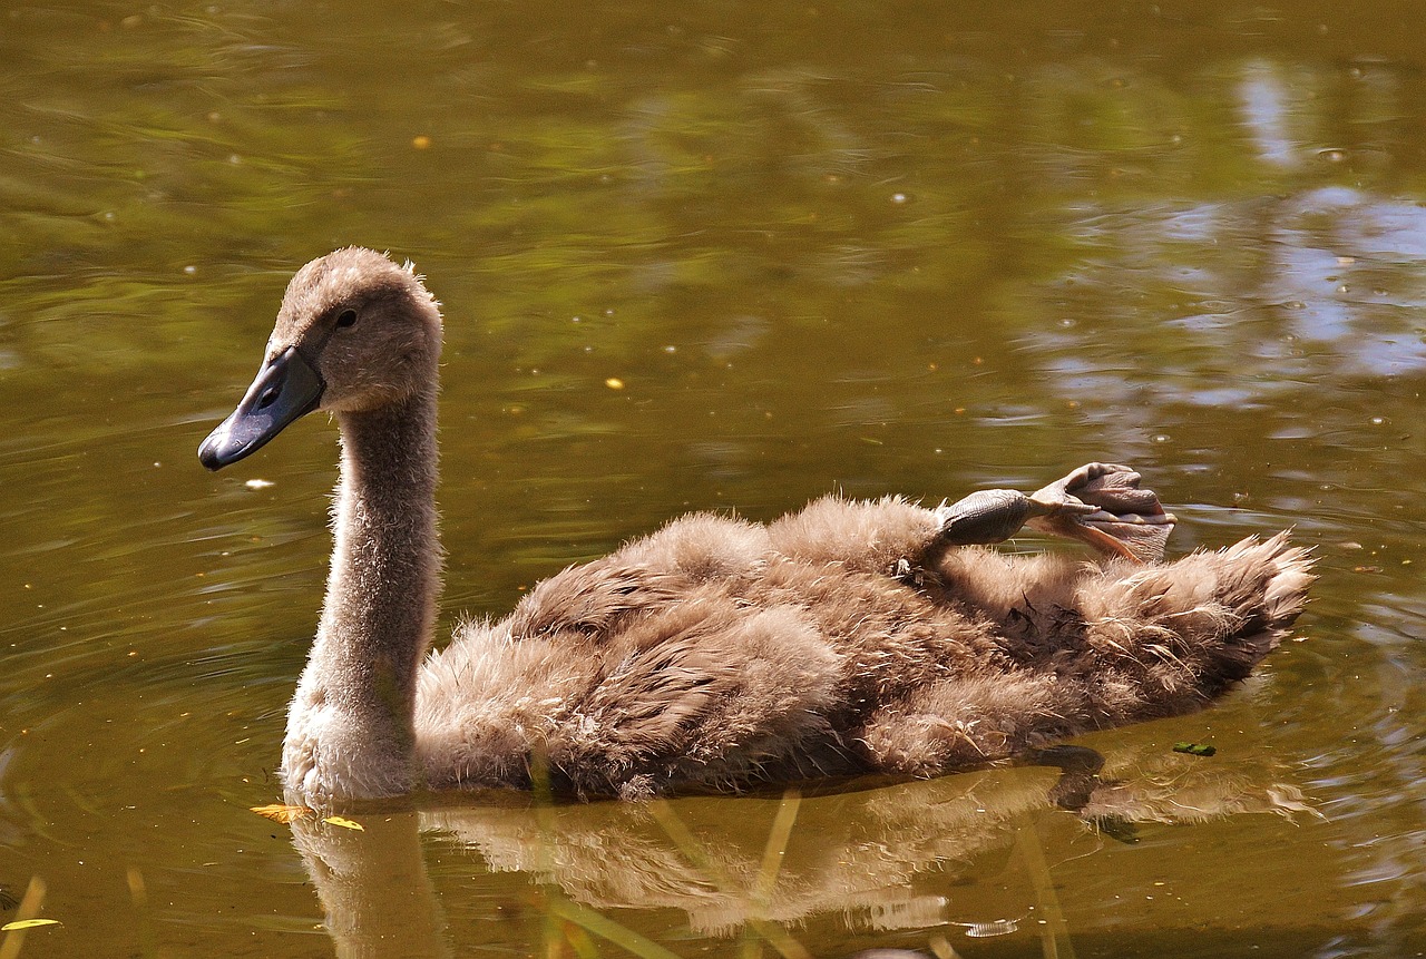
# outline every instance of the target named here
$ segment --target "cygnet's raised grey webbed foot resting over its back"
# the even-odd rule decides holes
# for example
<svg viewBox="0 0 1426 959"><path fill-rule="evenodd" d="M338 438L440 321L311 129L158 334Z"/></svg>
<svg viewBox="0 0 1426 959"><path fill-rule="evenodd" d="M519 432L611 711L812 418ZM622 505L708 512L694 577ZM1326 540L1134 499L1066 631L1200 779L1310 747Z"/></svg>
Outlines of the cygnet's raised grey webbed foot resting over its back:
<svg viewBox="0 0 1426 959"><path fill-rule="evenodd" d="M980 490L937 510L938 540L945 546L1000 543L1021 526L1088 543L1105 556L1141 563L1164 557L1174 514L1139 475L1118 463L1085 463L1030 496L1015 490Z"/></svg>

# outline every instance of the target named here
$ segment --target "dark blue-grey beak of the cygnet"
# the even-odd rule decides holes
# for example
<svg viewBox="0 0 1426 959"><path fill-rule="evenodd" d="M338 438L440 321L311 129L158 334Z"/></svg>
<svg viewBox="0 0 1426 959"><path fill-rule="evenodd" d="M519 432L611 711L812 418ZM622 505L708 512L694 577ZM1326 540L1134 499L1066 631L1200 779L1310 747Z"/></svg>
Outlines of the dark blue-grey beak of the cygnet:
<svg viewBox="0 0 1426 959"><path fill-rule="evenodd" d="M218 470L255 453L284 426L317 409L325 388L297 346L288 346L262 363L238 408L202 440L198 462Z"/></svg>

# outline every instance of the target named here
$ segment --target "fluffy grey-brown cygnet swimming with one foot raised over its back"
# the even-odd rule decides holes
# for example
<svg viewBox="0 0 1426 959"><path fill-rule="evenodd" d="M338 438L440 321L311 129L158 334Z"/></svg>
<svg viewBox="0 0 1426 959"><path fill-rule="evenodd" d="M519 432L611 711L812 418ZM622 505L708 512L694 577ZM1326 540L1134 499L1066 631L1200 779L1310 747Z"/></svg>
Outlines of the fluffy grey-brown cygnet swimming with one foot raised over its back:
<svg viewBox="0 0 1426 959"><path fill-rule="evenodd" d="M314 409L341 429L327 600L282 750L309 801L528 787L532 769L627 798L935 775L1202 707L1278 646L1312 580L1282 533L1158 561L1172 517L1137 473L1091 463L938 509L686 516L428 655L439 355L411 268L338 249L292 278L257 380L198 452L220 469ZM1027 519L1107 559L961 546Z"/></svg>

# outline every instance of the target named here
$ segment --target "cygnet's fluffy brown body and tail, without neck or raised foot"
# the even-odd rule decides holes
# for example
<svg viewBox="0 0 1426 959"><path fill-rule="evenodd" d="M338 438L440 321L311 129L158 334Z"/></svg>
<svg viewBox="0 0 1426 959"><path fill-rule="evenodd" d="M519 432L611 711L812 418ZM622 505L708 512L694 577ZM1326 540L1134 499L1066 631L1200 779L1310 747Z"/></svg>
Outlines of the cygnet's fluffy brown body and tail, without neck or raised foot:
<svg viewBox="0 0 1426 959"><path fill-rule="evenodd" d="M925 517L834 497L766 529L687 517L546 580L431 660L419 748L458 757L432 785L523 782L530 755L582 795L978 765L1205 705L1310 581L1285 534L1148 567L970 547L890 576ZM436 694L455 683L472 695Z"/></svg>

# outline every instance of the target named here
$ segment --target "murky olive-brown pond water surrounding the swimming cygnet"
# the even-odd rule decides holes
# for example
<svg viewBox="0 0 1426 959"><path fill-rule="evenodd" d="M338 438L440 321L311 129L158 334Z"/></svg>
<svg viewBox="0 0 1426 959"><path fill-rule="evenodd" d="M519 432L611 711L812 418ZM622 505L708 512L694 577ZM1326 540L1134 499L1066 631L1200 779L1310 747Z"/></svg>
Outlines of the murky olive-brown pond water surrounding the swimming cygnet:
<svg viewBox="0 0 1426 959"><path fill-rule="evenodd" d="M0 925L60 922L3 955L1422 955L1423 34L1387 0L0 6ZM250 807L335 430L194 452L347 244L445 304L441 636L680 512L1105 459L1171 551L1295 527L1303 641L1077 741L1078 814L1025 767L294 835Z"/></svg>

